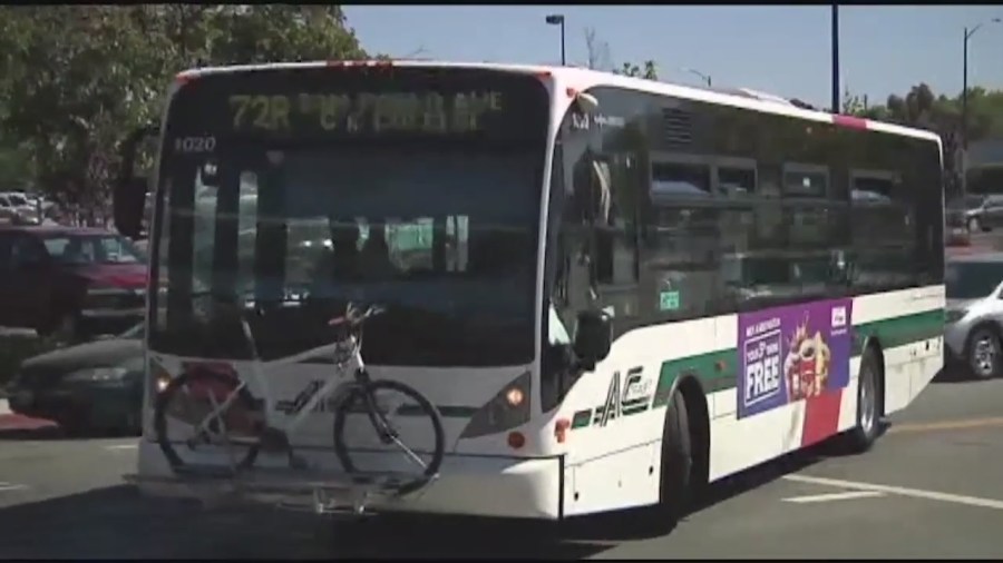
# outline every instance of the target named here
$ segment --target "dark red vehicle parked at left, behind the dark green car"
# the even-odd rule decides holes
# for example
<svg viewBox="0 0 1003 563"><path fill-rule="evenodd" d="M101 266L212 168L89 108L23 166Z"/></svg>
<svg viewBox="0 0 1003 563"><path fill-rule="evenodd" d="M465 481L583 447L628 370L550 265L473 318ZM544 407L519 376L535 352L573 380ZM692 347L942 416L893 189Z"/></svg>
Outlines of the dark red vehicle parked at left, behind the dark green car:
<svg viewBox="0 0 1003 563"><path fill-rule="evenodd" d="M79 340L143 318L146 256L118 234L0 226L0 326Z"/></svg>

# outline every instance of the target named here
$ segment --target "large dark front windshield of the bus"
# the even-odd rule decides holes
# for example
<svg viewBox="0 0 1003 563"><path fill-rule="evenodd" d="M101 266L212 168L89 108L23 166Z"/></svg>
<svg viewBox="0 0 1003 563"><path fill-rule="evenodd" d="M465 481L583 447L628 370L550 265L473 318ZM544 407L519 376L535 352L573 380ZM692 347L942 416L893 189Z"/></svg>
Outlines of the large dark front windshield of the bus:
<svg viewBox="0 0 1003 563"><path fill-rule="evenodd" d="M448 101L456 80L442 78L435 92ZM460 91L478 83L459 78ZM243 309L261 357L289 356L330 343L327 320L354 302L386 307L367 324L363 356L371 364L532 360L546 90L534 77L479 78L481 89L523 113L522 126L485 121L481 130L467 124L422 132L398 124L377 131L354 108L354 131L351 115L327 131L303 116L290 120L292 129L264 132L224 124L203 135L212 150L193 155L176 150L183 144L172 137L191 136L172 131L168 113L152 260L163 289L155 292L150 347L244 357L249 346L225 313ZM367 96L388 86L428 90L407 75L362 85ZM214 86L193 92L227 90ZM238 86L247 91L245 81ZM309 85L351 93L350 86ZM291 90L291 99L306 89ZM172 110L185 102L184 124L184 111L194 110L182 93Z"/></svg>

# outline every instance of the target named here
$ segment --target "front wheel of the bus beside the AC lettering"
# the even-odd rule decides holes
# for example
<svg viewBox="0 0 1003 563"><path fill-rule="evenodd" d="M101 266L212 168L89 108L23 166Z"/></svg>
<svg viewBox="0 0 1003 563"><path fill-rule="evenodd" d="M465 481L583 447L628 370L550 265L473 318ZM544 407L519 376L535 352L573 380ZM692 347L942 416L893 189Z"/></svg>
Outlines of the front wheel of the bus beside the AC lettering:
<svg viewBox="0 0 1003 563"><path fill-rule="evenodd" d="M693 444L690 414L678 391L672 394L662 434L662 468L659 486L659 513L674 525L689 508L692 495Z"/></svg>

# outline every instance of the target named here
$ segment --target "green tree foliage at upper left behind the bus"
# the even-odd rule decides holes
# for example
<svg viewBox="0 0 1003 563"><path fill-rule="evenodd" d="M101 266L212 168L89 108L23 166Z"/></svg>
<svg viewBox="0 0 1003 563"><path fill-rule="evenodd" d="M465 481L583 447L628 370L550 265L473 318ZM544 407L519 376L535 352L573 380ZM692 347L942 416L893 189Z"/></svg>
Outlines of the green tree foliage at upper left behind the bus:
<svg viewBox="0 0 1003 563"><path fill-rule="evenodd" d="M176 72L364 56L337 6L0 7L0 181L33 170L47 191L99 197Z"/></svg>

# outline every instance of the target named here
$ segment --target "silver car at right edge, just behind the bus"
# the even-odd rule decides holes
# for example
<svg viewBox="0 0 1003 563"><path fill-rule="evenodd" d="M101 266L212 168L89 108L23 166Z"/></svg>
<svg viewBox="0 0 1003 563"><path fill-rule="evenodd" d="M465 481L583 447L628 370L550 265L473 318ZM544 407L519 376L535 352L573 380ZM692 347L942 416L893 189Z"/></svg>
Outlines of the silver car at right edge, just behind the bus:
<svg viewBox="0 0 1003 563"><path fill-rule="evenodd" d="M1003 253L953 256L944 279L946 364L963 364L975 377L1003 373Z"/></svg>

